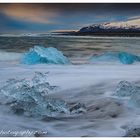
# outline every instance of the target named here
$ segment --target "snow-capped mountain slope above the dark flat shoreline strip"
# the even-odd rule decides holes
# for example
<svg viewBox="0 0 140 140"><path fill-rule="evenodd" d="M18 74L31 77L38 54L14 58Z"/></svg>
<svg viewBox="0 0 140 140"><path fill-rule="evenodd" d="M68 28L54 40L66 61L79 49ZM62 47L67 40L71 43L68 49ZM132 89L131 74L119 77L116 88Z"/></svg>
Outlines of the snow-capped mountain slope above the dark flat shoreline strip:
<svg viewBox="0 0 140 140"><path fill-rule="evenodd" d="M78 32L80 33L97 33L97 32L140 32L140 19L133 19L122 22L110 22L103 24L93 24L83 27Z"/></svg>

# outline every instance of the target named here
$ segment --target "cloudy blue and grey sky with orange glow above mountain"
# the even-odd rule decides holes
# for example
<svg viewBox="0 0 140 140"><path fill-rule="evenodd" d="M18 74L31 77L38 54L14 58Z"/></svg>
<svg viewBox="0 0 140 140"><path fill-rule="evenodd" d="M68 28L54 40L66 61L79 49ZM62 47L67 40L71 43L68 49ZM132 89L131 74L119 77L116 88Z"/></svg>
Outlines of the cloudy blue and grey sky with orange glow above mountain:
<svg viewBox="0 0 140 140"><path fill-rule="evenodd" d="M0 33L77 30L140 17L140 4L0 4Z"/></svg>

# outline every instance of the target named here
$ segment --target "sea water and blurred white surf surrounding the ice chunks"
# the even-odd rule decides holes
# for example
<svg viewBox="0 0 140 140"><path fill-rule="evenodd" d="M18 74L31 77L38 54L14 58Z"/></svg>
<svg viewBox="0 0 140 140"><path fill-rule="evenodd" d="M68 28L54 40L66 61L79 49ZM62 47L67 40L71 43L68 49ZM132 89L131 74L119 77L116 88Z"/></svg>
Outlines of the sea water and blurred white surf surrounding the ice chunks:
<svg viewBox="0 0 140 140"><path fill-rule="evenodd" d="M62 51L72 64L21 64L23 53L34 45L55 47ZM59 112L53 117L40 118L13 112L11 102L3 103L5 98L2 92L0 136L125 136L127 130L140 128L140 110L129 104L131 97L116 97L113 94L120 81L129 81L139 86L140 64L123 65L105 62L91 64L88 61L93 54L111 51L140 55L140 38L0 37L0 89L8 79L25 78L30 81L35 72L47 72L47 82L58 86L56 91L49 94L51 98L63 100L68 105L80 103L85 106L85 111L75 107L74 113ZM33 89L33 86L29 89ZM6 94L11 93L11 90L6 90ZM19 97L21 92L18 93ZM8 95L8 98L10 96ZM76 112L77 108L80 111ZM31 109L33 112L36 111L34 107Z"/></svg>

